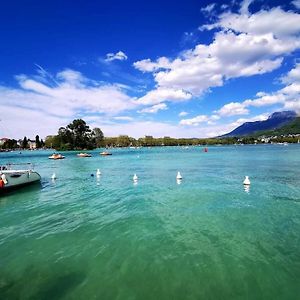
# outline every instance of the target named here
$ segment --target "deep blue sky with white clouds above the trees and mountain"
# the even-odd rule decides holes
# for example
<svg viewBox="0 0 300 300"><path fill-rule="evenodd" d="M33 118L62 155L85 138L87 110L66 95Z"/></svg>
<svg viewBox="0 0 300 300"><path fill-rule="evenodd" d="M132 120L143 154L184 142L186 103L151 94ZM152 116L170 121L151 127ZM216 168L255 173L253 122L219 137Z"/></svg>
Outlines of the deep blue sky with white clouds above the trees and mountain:
<svg viewBox="0 0 300 300"><path fill-rule="evenodd" d="M300 112L300 0L6 2L0 137L74 118L106 136L207 137Z"/></svg>

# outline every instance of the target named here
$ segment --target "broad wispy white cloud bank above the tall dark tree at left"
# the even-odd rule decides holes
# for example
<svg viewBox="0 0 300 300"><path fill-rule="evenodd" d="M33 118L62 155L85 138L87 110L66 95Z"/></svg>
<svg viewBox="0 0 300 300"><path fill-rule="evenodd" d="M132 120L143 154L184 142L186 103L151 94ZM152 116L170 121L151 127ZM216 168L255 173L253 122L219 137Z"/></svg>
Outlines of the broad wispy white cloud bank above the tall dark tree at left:
<svg viewBox="0 0 300 300"><path fill-rule="evenodd" d="M47 84L34 76L19 75L16 76L19 88L0 86L1 118L9 116L15 124L11 128L17 128L16 123L30 124L31 130L54 123L57 124L54 128L58 128L74 117L88 114L113 117L138 107L136 100L120 86L90 80L80 72L66 69L53 78L55 85L53 81ZM24 114L24 118L18 114Z"/></svg>

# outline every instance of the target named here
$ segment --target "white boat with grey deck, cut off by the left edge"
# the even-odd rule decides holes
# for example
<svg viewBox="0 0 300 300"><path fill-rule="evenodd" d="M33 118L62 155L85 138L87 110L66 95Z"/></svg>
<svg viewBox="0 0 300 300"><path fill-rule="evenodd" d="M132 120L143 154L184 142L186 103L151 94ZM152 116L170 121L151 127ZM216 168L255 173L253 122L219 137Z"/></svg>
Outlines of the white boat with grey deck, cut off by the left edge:
<svg viewBox="0 0 300 300"><path fill-rule="evenodd" d="M27 169L24 166L27 166ZM20 166L21 168L16 168ZM0 166L0 192L39 182L41 176L32 164L8 164Z"/></svg>

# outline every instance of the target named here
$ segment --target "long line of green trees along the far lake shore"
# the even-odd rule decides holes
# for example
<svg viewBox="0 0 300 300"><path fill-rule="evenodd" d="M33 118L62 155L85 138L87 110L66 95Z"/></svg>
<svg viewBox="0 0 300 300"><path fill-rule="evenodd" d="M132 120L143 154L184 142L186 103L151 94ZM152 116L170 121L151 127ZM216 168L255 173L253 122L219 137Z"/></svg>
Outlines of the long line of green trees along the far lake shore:
<svg viewBox="0 0 300 300"><path fill-rule="evenodd" d="M297 143L298 135L273 136L268 138L267 143ZM16 141L9 139L4 142L0 149L28 149L31 140L25 136L23 140ZM154 138L145 136L135 139L128 135L118 137L104 137L100 128L90 129L82 119L75 119L66 127L60 127L57 135L48 136L45 140L35 137L35 147L31 148L51 148L56 150L92 150L100 147L153 147L153 146L195 146L195 145L232 145L232 144L256 144L266 143L263 136L245 137L217 137L217 138Z"/></svg>

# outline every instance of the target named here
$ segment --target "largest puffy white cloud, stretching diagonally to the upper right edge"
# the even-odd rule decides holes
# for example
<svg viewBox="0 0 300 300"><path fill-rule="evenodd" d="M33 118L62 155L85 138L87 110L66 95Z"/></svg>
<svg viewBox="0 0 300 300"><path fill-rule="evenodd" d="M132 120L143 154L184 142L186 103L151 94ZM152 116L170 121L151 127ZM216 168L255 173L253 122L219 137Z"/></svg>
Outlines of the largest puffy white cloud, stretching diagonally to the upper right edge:
<svg viewBox="0 0 300 300"><path fill-rule="evenodd" d="M210 44L198 44L175 59L143 59L134 63L135 68L153 73L157 90L183 90L192 96L222 86L231 78L279 68L286 55L300 49L300 15L279 7L251 14L251 2L243 1L239 13L223 13L217 22L200 28L219 29ZM157 95L155 101L163 99Z"/></svg>

